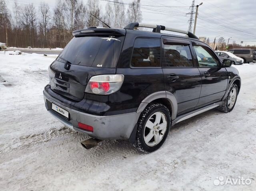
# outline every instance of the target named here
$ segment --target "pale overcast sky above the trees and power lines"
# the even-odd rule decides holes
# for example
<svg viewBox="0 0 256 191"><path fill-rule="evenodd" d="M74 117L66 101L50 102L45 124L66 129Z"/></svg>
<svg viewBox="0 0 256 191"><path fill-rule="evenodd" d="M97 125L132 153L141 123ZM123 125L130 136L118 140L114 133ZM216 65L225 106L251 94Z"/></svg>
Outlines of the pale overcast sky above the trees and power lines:
<svg viewBox="0 0 256 191"><path fill-rule="evenodd" d="M17 0L19 4L34 3L38 8L41 1L54 8L57 0ZM114 0L113 0L114 1ZM14 0L6 0L12 10ZM83 0L84 3L87 0ZM104 11L106 1L100 0ZM123 0L130 3L132 0ZM214 37L223 36L226 42L235 40L240 44L256 44L256 0L196 0L195 5L203 3L198 9L196 36L206 36L213 42ZM189 6L192 0L141 0L142 21L188 30ZM126 8L128 5L125 5ZM174 6L174 7L171 7ZM196 10L194 10L196 11ZM194 26L194 23L193 23Z"/></svg>

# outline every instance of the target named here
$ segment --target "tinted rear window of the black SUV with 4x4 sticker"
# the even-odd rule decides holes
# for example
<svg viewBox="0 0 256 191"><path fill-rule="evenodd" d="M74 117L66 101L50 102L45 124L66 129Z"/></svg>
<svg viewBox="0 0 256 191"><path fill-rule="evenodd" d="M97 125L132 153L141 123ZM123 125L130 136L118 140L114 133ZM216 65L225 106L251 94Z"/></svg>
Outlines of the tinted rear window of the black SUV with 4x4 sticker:
<svg viewBox="0 0 256 191"><path fill-rule="evenodd" d="M123 40L123 36L74 37L56 60L81 66L115 68Z"/></svg>

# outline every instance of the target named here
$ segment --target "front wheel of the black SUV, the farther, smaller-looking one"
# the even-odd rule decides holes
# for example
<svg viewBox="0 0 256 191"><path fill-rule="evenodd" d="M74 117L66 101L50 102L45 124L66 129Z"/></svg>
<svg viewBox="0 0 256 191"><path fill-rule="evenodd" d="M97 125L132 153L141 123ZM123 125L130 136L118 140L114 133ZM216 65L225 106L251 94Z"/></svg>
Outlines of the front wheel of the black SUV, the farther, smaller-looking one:
<svg viewBox="0 0 256 191"><path fill-rule="evenodd" d="M220 111L223 111L225 113L232 111L236 104L237 95L238 95L238 87L236 84L232 84L230 91L228 92L228 95L224 99L222 105L218 107Z"/></svg>

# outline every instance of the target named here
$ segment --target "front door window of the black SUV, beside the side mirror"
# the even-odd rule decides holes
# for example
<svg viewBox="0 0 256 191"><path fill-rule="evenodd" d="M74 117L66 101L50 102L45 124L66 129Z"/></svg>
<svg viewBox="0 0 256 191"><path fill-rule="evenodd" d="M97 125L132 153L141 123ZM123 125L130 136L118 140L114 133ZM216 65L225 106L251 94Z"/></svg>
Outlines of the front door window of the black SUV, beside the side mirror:
<svg viewBox="0 0 256 191"><path fill-rule="evenodd" d="M196 52L199 67L218 67L220 66L218 59L213 52L204 46L193 46Z"/></svg>

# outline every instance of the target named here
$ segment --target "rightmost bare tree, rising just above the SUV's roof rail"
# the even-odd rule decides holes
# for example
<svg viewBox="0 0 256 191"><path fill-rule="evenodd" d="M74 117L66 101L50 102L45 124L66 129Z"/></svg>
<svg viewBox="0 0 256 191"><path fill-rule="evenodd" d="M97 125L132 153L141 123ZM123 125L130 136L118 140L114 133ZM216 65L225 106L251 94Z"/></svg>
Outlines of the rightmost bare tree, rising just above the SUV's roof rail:
<svg viewBox="0 0 256 191"><path fill-rule="evenodd" d="M140 0L133 0L132 4L129 5L127 10L127 21L130 22L141 22L142 13L140 10Z"/></svg>

